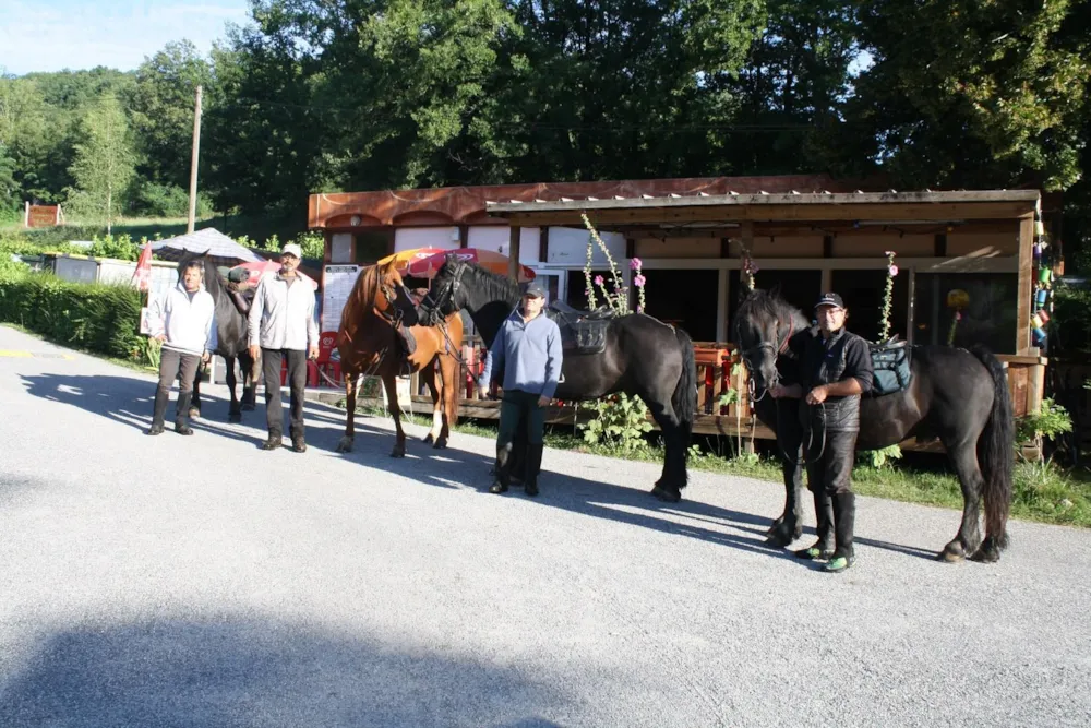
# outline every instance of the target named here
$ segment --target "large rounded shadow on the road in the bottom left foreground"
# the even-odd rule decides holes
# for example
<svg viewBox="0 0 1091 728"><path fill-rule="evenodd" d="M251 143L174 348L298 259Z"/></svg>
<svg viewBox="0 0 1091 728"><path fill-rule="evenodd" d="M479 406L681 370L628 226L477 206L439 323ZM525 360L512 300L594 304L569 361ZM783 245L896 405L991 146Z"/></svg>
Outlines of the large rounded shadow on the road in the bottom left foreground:
<svg viewBox="0 0 1091 728"><path fill-rule="evenodd" d="M572 709L525 672L265 620L68 629L0 684L5 726L504 726Z"/></svg>

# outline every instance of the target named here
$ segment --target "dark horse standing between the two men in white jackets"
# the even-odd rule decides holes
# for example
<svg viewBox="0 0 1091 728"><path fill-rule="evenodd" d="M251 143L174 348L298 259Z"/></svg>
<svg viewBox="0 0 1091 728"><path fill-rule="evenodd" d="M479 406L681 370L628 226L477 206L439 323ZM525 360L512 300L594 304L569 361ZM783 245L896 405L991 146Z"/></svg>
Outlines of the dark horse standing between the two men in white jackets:
<svg viewBox="0 0 1091 728"><path fill-rule="evenodd" d="M231 407L228 421L241 422L242 410L254 408L257 393L259 362L247 349L247 317L239 310L235 296L227 289L227 284L216 270L213 260L205 255L187 255L178 263L179 275L185 263L199 260L204 265L204 285L216 302L216 350L227 365L227 387L231 392ZM242 370L242 401L236 396L235 387L238 380L235 375L235 362L238 360ZM193 380L193 401L190 404L190 417L201 416L201 371L197 370Z"/></svg>

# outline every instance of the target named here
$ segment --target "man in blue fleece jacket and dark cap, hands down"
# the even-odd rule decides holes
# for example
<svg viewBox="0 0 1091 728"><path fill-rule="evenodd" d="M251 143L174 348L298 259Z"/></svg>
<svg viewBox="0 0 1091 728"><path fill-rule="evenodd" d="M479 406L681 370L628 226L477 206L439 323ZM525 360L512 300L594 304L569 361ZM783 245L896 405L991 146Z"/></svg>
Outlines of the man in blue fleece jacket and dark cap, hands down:
<svg viewBox="0 0 1091 728"><path fill-rule="evenodd" d="M496 437L496 481L489 492L507 491L511 481L512 442L519 418L527 421L527 496L538 494L538 473L542 464L546 405L553 398L561 378L561 330L542 313L546 293L531 283L523 294L523 305L500 327L489 350L478 385L485 390L492 373L504 372L504 399L500 406Z"/></svg>

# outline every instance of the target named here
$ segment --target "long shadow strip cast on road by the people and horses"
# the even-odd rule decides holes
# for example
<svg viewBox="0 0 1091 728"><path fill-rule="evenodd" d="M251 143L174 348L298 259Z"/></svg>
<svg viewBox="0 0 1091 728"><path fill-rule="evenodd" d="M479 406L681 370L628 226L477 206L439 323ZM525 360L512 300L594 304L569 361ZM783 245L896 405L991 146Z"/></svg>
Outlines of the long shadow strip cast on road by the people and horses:
<svg viewBox="0 0 1091 728"><path fill-rule="evenodd" d="M37 397L69 404L124 422L134 431L146 429L151 423L154 382L113 375L24 374L22 377L27 392ZM287 403L284 406L287 408ZM167 413L168 427L173 418L173 407L175 404L171 402ZM218 417L226 420L227 410L226 399L205 396L204 416L200 420L193 420L192 426L195 430L256 446L264 438L264 403L260 402L253 411L243 413L243 423L259 428L262 432L260 437L239 433L232 429L237 426L211 419ZM308 445L333 452L344 431L344 411L331 405L313 402L307 403L305 411ZM453 489L465 489L469 486L489 498L500 498L487 493L492 481L489 474L492 458L456 447L434 450L412 437L407 442L407 456L392 458L389 452L394 441L393 432L370 428L362 423L365 421L363 417L357 418L355 449L344 457L367 467L431 486ZM168 429L168 432L160 437L177 435ZM459 437L464 435L456 433L452 442L456 444ZM558 508L772 558L795 560L789 551L766 545L765 532L769 526L769 520L764 516L690 500L661 503L647 492L651 482L647 484L647 490L638 490L548 472L549 461L555 456L555 452L547 454L543 464L546 469L541 476L542 494L532 501L527 499L528 506ZM513 487L507 497L524 498L519 487ZM807 530L813 533L810 528ZM914 547L864 538L856 538L856 542L908 556L933 558L931 552ZM807 564L801 562L801 565Z"/></svg>

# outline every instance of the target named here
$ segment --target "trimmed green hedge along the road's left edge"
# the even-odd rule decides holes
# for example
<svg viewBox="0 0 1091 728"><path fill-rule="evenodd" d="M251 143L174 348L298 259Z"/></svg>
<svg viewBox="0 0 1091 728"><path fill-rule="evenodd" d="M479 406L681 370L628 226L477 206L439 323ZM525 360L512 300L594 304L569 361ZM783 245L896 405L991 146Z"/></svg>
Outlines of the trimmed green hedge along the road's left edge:
<svg viewBox="0 0 1091 728"><path fill-rule="evenodd" d="M40 273L0 275L0 321L112 357L140 357L140 293L128 286L72 283Z"/></svg>

